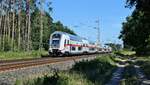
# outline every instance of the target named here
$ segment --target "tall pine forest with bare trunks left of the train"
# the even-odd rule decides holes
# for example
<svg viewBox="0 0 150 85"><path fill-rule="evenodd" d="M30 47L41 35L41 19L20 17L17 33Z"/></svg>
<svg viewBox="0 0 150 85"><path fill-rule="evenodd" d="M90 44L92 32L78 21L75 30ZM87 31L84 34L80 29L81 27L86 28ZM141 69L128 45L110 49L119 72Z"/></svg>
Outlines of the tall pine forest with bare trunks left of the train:
<svg viewBox="0 0 150 85"><path fill-rule="evenodd" d="M0 0L0 51L47 50L52 32L75 34L53 21L51 4L50 0Z"/></svg>

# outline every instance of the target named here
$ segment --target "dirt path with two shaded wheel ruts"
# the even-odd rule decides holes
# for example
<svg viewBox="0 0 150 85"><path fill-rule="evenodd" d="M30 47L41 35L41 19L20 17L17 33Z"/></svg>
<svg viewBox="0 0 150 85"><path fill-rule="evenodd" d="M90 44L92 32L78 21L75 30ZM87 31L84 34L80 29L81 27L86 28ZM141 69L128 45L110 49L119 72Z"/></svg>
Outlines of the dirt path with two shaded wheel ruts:
<svg viewBox="0 0 150 85"><path fill-rule="evenodd" d="M131 58L128 61L131 61L132 63L135 62L135 59ZM117 64L118 68L113 73L111 80L106 85L120 85L120 81L123 79L123 74L125 71L125 67L129 65L126 62L121 62L120 64ZM140 66L134 65L134 69L137 75L137 78L140 82L140 85L150 85L150 80L148 80L140 68Z"/></svg>

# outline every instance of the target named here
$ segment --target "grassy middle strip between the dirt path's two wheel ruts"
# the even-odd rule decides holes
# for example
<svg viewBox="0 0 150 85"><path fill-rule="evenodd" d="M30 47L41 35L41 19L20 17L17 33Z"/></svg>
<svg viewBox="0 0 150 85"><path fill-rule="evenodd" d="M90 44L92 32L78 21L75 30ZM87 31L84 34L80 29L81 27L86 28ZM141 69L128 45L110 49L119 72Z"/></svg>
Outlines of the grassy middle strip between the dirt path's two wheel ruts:
<svg viewBox="0 0 150 85"><path fill-rule="evenodd" d="M121 56L116 60L126 60L127 66L124 68L122 80L119 85L140 85L140 81L138 79L136 69L134 67L135 63L130 61L130 59L134 58L135 52L129 50L118 51L115 54Z"/></svg>

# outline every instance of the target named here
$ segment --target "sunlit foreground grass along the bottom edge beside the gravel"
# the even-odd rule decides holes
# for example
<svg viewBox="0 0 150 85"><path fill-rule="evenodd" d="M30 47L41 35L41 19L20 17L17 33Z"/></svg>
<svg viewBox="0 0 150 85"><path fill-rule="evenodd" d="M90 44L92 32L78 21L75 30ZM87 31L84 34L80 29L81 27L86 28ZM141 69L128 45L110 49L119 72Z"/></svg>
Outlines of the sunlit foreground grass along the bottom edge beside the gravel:
<svg viewBox="0 0 150 85"><path fill-rule="evenodd" d="M87 80L82 74L60 72L58 75L45 75L43 77L17 80L15 85L94 85Z"/></svg>

